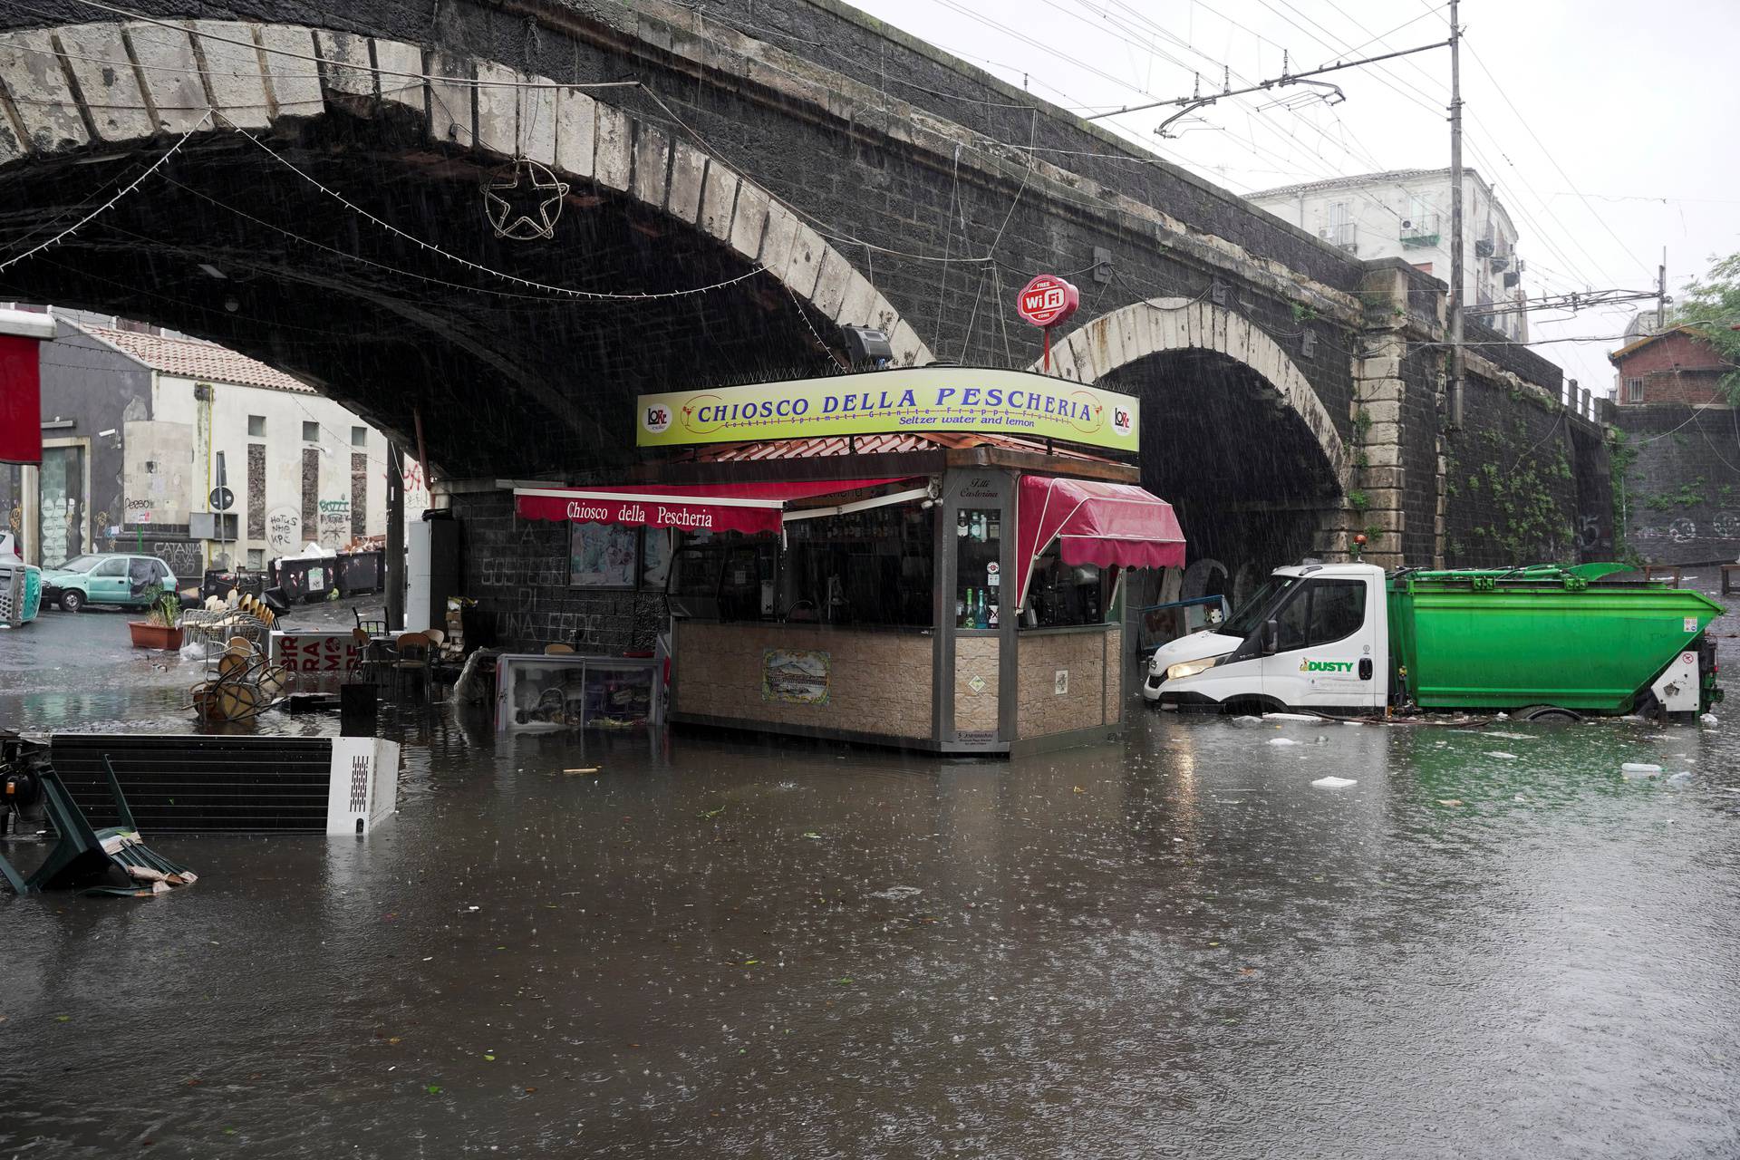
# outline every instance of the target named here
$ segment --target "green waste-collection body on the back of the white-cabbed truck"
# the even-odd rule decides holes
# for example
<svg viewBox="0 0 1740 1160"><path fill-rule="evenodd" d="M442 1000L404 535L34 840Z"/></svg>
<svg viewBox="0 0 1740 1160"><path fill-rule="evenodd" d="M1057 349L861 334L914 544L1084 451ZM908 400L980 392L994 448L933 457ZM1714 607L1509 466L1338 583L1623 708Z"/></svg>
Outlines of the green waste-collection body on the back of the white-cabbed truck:
<svg viewBox="0 0 1740 1160"><path fill-rule="evenodd" d="M1392 687L1427 710L1632 711L1681 652L1700 649L1723 607L1660 581L1608 579L1622 570L1589 563L1395 574ZM1709 697L1714 680L1703 683Z"/></svg>

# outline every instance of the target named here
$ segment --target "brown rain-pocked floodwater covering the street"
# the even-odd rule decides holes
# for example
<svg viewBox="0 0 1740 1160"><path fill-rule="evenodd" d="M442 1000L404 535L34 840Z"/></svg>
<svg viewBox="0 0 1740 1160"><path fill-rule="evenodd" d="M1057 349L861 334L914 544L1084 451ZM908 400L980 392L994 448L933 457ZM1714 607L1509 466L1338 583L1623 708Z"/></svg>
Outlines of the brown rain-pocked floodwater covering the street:
<svg viewBox="0 0 1740 1160"><path fill-rule="evenodd" d="M0 637L0 723L184 730L124 642ZM1726 715L1131 720L950 762L414 718L367 840L0 899L0 1157L1740 1153Z"/></svg>

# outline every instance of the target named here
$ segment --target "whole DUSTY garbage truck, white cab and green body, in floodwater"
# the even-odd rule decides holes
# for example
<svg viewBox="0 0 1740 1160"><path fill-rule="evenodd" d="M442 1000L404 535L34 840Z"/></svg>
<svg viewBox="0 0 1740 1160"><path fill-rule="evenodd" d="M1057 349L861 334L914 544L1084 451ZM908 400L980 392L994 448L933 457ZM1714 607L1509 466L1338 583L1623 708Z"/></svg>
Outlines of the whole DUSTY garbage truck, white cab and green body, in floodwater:
<svg viewBox="0 0 1740 1160"><path fill-rule="evenodd" d="M1721 699L1700 591L1618 563L1275 569L1223 624L1162 645L1143 697L1180 708L1707 713Z"/></svg>

